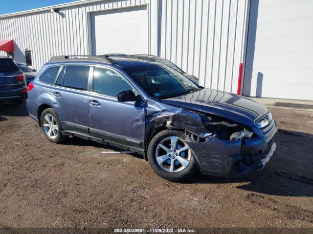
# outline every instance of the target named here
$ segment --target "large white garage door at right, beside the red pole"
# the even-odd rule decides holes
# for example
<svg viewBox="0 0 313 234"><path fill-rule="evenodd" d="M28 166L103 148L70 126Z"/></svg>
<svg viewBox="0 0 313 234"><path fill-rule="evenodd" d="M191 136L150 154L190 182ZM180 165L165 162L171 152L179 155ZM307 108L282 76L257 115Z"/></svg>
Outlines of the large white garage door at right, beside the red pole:
<svg viewBox="0 0 313 234"><path fill-rule="evenodd" d="M243 94L313 100L313 0L252 0Z"/></svg>

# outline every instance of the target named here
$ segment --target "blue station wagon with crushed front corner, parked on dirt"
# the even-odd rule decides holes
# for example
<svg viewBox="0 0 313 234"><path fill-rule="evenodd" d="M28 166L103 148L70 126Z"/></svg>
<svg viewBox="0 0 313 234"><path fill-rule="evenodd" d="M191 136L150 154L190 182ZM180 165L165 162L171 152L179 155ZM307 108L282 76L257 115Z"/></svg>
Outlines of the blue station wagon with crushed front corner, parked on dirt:
<svg viewBox="0 0 313 234"><path fill-rule="evenodd" d="M202 88L155 61L53 57L29 83L27 109L55 143L68 136L142 154L179 181L240 176L273 155L277 126L260 103Z"/></svg>

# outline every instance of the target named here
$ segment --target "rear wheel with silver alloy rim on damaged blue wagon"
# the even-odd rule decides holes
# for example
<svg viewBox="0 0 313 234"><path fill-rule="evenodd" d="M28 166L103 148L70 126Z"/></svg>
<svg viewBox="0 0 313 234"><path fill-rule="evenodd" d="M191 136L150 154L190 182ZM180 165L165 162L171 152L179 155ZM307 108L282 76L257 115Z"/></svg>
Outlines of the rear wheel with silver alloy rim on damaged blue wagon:
<svg viewBox="0 0 313 234"><path fill-rule="evenodd" d="M43 111L40 117L41 128L45 137L53 143L61 143L68 136L64 136L61 132L61 122L52 108Z"/></svg>

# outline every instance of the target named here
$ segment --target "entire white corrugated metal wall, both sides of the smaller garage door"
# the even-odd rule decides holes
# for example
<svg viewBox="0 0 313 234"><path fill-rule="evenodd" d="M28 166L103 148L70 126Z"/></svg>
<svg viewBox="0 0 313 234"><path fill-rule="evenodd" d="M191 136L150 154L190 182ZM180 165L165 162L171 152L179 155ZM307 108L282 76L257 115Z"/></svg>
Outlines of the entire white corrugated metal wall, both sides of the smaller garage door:
<svg viewBox="0 0 313 234"><path fill-rule="evenodd" d="M205 87L236 92L248 0L104 0L60 8L59 14L2 18L0 40L14 39L21 58L25 48L32 50L40 69L51 56L91 54L88 12L138 4L148 4L149 53L198 76Z"/></svg>

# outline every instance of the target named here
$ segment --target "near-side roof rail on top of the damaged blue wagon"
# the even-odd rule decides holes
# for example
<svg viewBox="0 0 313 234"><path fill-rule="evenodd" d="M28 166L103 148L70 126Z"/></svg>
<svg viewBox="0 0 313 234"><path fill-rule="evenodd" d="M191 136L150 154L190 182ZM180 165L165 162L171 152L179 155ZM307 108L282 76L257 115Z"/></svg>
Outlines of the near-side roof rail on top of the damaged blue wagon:
<svg viewBox="0 0 313 234"><path fill-rule="evenodd" d="M90 55L63 55L51 57L49 62L59 62L59 61L97 61L105 62L110 64L116 64L113 59L100 56L90 56Z"/></svg>

